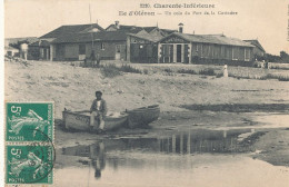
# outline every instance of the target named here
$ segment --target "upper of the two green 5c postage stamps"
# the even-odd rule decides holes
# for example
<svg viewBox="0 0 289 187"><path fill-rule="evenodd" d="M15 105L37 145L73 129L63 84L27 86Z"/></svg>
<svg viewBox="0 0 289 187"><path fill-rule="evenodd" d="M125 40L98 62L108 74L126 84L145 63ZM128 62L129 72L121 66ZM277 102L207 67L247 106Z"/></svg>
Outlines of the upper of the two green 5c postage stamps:
<svg viewBox="0 0 289 187"><path fill-rule="evenodd" d="M53 102L6 102L6 141L53 139Z"/></svg>

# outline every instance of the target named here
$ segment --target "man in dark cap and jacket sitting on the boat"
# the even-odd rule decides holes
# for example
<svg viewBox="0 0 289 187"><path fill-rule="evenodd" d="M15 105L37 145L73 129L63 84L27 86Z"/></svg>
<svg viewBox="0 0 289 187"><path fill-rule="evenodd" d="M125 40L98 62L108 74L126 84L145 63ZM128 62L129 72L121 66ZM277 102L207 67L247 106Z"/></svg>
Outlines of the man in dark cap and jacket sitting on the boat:
<svg viewBox="0 0 289 187"><path fill-rule="evenodd" d="M99 131L103 132L104 129L104 117L107 115L107 102L102 99L102 92L96 91L96 99L93 100L90 107L90 127L93 128L94 126L94 117L98 117L99 120Z"/></svg>

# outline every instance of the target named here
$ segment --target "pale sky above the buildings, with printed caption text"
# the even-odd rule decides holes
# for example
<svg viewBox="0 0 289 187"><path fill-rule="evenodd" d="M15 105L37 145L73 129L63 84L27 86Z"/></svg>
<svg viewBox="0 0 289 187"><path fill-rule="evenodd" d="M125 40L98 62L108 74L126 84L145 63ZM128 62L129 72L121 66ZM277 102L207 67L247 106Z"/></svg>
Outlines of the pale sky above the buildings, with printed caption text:
<svg viewBox="0 0 289 187"><path fill-rule="evenodd" d="M149 3L150 8L140 8ZM153 8L153 4L202 3L206 8ZM258 39L267 52L289 52L288 38L289 0L4 0L4 37L40 37L62 24L90 23L106 28L116 20L120 24L159 26L196 35L223 33L239 39ZM156 12L155 16L119 16L119 11ZM165 14L171 12L171 16ZM185 14L185 11L190 14ZM192 14L200 11L202 14ZM216 14L203 14L213 11ZM235 11L238 14L223 16L219 11ZM178 14L182 12L182 14ZM177 13L173 16L173 13Z"/></svg>

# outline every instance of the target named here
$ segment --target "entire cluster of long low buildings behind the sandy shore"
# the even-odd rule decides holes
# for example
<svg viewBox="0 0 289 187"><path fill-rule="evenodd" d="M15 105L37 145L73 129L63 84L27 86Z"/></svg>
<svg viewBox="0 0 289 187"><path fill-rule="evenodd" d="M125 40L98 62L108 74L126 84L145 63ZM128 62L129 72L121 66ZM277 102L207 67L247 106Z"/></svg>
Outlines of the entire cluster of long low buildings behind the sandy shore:
<svg viewBox="0 0 289 187"><path fill-rule="evenodd" d="M90 58L92 50L104 60L147 63L243 63L253 60L249 42L223 35L182 33L158 27L98 24L62 26L40 37L42 59L68 61ZM42 52L41 52L42 51ZM42 53L42 55L41 55Z"/></svg>

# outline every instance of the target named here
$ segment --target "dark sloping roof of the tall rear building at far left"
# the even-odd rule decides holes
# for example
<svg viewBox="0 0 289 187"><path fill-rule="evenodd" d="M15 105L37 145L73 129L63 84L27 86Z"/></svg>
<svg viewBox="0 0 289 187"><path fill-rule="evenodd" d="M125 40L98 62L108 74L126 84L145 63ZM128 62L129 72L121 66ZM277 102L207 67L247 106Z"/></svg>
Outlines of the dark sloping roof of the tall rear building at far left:
<svg viewBox="0 0 289 187"><path fill-rule="evenodd" d="M93 24L71 24L71 26L61 26L54 30L52 30L51 32L48 32L46 35L43 35L41 38L59 38L62 37L64 35L72 35L72 33L78 33L84 30L90 29L91 27L97 28L101 31L103 31L104 29L102 27L100 27L97 23Z"/></svg>

